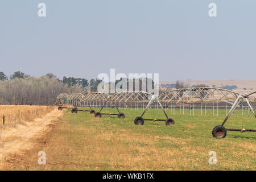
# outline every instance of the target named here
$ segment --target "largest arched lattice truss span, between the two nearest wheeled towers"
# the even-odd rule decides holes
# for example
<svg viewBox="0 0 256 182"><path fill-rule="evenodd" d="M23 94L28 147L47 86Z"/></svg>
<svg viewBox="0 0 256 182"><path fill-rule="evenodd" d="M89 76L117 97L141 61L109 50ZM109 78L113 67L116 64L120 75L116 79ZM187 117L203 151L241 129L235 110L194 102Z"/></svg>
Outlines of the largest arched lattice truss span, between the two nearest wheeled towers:
<svg viewBox="0 0 256 182"><path fill-rule="evenodd" d="M174 102L175 104L180 102L228 102L233 104L239 95L240 93L231 90L201 87L170 90L160 94L159 100L167 103Z"/></svg>

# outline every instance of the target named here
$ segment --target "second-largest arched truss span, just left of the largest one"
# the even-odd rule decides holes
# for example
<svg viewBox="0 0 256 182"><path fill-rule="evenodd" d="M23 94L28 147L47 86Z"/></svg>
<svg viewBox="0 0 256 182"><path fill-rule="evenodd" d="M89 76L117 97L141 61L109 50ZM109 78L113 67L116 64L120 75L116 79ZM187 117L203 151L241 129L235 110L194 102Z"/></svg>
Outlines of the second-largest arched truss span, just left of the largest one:
<svg viewBox="0 0 256 182"><path fill-rule="evenodd" d="M125 91L115 93L112 97L114 102L143 102L150 101L152 94L144 91Z"/></svg>

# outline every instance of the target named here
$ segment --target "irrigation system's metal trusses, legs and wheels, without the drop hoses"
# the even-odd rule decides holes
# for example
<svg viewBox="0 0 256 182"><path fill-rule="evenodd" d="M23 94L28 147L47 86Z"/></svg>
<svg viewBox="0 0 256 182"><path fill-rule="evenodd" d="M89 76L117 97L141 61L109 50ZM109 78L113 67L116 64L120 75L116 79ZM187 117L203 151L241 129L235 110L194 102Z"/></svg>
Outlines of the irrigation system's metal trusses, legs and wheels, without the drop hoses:
<svg viewBox="0 0 256 182"><path fill-rule="evenodd" d="M118 107L115 106L118 110L118 114L112 114L112 113L101 113L102 109L106 106L107 102L148 102L147 106L143 110L143 113L141 116L135 118L134 123L136 125L143 125L144 121L166 121L166 125L174 125L174 120L172 118L168 118L168 115L162 106L162 103L175 103L179 104L180 102L191 104L191 103L202 103L202 102L227 102L229 104L232 104L231 109L229 110L226 118L224 119L224 122L222 122L222 125L214 127L212 134L213 137L221 137L224 138L226 136L226 131L256 131L251 129L225 129L224 124L230 116L232 115L233 111L236 109L236 107L239 106L241 101L244 99L250 110L253 112L254 117L256 118L256 113L254 106L251 102L256 101L255 97L256 92L252 92L250 94L241 94L238 92L234 92L232 90L222 89L222 88L210 88L210 87L200 87L200 88L185 88L185 89L175 89L170 90L168 92L164 92L160 94L159 96L155 96L153 94L143 92L143 91L125 91L125 92L119 92L115 93L113 95L109 95L106 93L100 93L100 92L94 92L86 94L86 96L83 96L80 93L73 93L71 96L68 96L67 93L61 93L57 97L57 101L60 100L80 100L80 101L104 101L104 105L101 107L100 111L95 113L95 117L101 117L101 114L108 114L108 115L118 115L123 114L120 113L118 110ZM57 102L56 101L56 102ZM166 119L144 119L142 118L144 113L146 113L147 109L150 107L152 102L158 102L160 107L163 110L163 113L166 115ZM90 107L90 111L92 111L92 108ZM80 111L77 110L76 111ZM85 111L85 110L81 110ZM124 114L121 118L124 118Z"/></svg>

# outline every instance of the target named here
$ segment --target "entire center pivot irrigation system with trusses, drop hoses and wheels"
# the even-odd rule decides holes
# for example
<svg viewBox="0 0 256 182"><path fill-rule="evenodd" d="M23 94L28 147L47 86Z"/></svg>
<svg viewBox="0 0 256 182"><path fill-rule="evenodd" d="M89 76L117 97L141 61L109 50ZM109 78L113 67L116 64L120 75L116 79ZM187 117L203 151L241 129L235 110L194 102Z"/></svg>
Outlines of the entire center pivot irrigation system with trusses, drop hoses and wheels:
<svg viewBox="0 0 256 182"><path fill-rule="evenodd" d="M106 94L106 93L89 93L86 94L86 96L83 96L80 93L74 93L71 96L68 96L67 93L61 93L57 97L56 103L58 103L60 106L59 108L67 108L72 109L72 113L77 113L77 111L89 111L92 114L95 114L95 117L101 117L102 115L117 115L118 118L125 118L125 114L120 113L118 109L118 104L121 107L121 104L124 104L124 107L127 104L130 103L130 106L137 106L138 103L141 104L141 107L143 108L143 112L140 116L136 117L134 119L135 125L143 125L144 121L165 121L167 126L174 125L174 119L169 118L165 108L170 108L170 111L172 113L175 113L175 109L180 111L183 108L183 114L184 114L184 107L189 108L190 114L195 114L195 108L199 109L201 108L201 115L203 115L203 110L206 115L207 108L213 109L213 116L214 111L217 110L218 115L218 109L226 109L226 118L224 119L224 122L222 125L218 125L213 128L212 135L216 138L225 138L226 137L226 131L256 131L252 129L226 129L224 127L224 124L230 116L232 115L233 111L240 107L243 111L243 101L246 101L246 104L248 105L248 111L253 112L255 118L255 109L252 104L252 102L255 103L256 92L250 93L250 94L241 94L238 92L233 92L232 90L227 89L221 89L221 88L209 88L209 87L201 87L201 88L185 88L185 89L176 89L176 90L170 90L168 92L164 92L160 94L159 96L143 92L143 91L125 91L125 92L119 92L112 95ZM92 110L92 103L94 106L94 102L96 102L96 107L100 106L100 111L96 112L95 110ZM101 113L102 109L104 107L108 107L108 102L110 102L110 107L116 108L118 113ZM86 103L86 104L85 104ZM100 103L98 105L98 103ZM73 104L75 107L63 107L61 104ZM144 104L147 104L144 108ZM152 107L152 104L159 104L160 108L163 110L163 113L165 115L165 119L159 119L159 118L143 118L144 114L148 109ZM79 110L77 109L77 106L79 105L88 105L90 107L90 110ZM143 106L142 106L143 105ZM165 106L164 106L165 105ZM228 112L228 105L231 105L231 108ZM204 109L203 109L204 108Z"/></svg>

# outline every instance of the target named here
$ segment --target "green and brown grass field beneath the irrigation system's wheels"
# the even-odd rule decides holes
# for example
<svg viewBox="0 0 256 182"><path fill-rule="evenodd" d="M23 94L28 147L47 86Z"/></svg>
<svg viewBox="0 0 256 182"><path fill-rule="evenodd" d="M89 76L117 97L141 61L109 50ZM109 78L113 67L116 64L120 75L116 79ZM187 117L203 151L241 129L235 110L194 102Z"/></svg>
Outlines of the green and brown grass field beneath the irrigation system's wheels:
<svg viewBox="0 0 256 182"><path fill-rule="evenodd" d="M94 108L96 111L99 108ZM125 119L65 110L64 117L48 133L35 140L34 148L9 156L2 169L15 170L255 170L256 134L228 131L226 138L212 137L214 126L221 125L226 110L218 117L207 110L185 110L175 114L175 126L163 121L145 121L134 125L142 110L120 109ZM102 113L115 113L105 108ZM150 109L143 118L164 119L163 111ZM253 114L236 110L225 127L255 129ZM46 165L38 164L38 151L45 151ZM210 165L208 155L216 151L217 164Z"/></svg>

